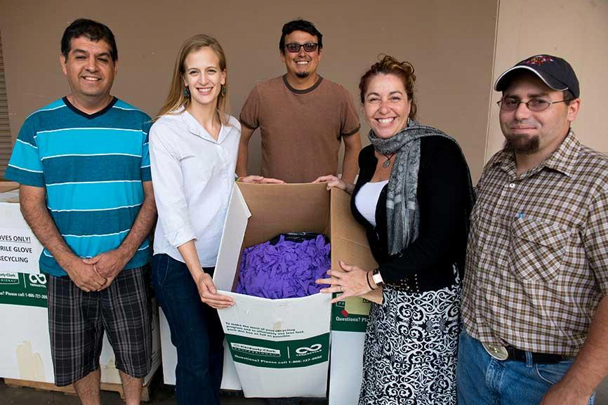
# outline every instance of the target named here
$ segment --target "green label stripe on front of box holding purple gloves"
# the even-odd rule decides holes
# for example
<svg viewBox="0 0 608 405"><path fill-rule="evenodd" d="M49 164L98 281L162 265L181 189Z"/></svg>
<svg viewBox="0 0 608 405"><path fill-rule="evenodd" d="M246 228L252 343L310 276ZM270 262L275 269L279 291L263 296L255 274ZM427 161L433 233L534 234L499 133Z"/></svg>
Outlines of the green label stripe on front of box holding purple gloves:
<svg viewBox="0 0 608 405"><path fill-rule="evenodd" d="M232 359L237 363L270 369L308 367L329 360L329 333L308 339L274 342L226 335Z"/></svg>

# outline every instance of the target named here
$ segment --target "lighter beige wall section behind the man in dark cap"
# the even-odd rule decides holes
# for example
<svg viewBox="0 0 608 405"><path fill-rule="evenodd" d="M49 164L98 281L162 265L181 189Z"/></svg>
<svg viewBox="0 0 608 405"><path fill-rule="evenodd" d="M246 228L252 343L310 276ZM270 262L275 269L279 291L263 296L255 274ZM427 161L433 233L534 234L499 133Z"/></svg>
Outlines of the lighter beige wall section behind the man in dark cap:
<svg viewBox="0 0 608 405"><path fill-rule="evenodd" d="M586 145L608 152L608 0L502 0L498 11L493 79L537 53L566 59L581 85L581 109L572 124ZM491 91L485 160L500 150L501 94Z"/></svg>

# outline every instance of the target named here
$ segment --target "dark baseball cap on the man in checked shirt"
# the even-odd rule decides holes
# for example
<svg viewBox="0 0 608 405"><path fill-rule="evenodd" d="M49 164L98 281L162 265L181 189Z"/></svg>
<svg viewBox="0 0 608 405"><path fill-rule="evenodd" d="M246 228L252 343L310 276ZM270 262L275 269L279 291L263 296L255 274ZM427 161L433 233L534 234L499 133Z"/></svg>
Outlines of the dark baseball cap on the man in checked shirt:
<svg viewBox="0 0 608 405"><path fill-rule="evenodd" d="M505 70L494 84L494 90L504 91L510 83L513 72L527 70L538 76L547 86L553 90L569 90L574 98L579 98L579 79L576 79L574 69L566 60L553 55L534 55L524 59L517 65Z"/></svg>

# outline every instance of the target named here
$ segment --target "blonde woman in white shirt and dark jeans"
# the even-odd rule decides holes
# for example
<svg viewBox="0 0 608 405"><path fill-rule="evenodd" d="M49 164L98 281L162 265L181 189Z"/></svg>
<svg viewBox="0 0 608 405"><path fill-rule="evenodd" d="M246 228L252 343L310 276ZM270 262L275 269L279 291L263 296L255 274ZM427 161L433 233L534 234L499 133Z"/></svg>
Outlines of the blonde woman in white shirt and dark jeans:
<svg viewBox="0 0 608 405"><path fill-rule="evenodd" d="M212 277L241 135L239 121L226 113L226 95L222 47L210 36L193 36L180 49L169 95L150 130L159 212L152 283L178 352L180 405L220 403L224 334L217 309L234 303L218 294Z"/></svg>

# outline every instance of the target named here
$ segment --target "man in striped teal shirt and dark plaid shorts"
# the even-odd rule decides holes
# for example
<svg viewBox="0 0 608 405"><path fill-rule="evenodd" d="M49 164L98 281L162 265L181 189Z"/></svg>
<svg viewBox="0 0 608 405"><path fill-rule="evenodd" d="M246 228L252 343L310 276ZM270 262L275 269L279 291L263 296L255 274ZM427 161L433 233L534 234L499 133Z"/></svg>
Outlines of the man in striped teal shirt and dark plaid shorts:
<svg viewBox="0 0 608 405"><path fill-rule="evenodd" d="M126 403L138 404L151 364L150 117L110 94L118 55L105 25L72 22L61 51L71 92L27 117L5 177L20 182L21 211L44 246L55 383L99 404L105 330Z"/></svg>

